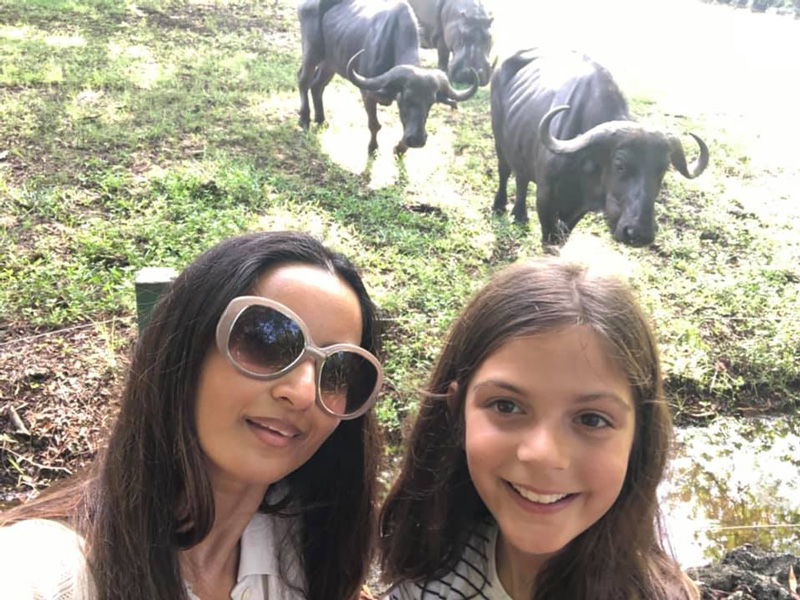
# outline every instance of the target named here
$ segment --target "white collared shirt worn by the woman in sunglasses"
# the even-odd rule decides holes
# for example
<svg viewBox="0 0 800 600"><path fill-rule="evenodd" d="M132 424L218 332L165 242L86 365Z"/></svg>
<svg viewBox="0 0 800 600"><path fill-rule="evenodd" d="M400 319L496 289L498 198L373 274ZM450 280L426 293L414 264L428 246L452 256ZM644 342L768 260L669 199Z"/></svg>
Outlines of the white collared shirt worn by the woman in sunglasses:
<svg viewBox="0 0 800 600"><path fill-rule="evenodd" d="M302 593L283 578L285 575L297 587L305 587L294 544L287 537L295 521L275 515L253 515L242 533L239 573L231 590L231 600L303 598ZM197 599L190 589L188 591L193 600ZM94 598L88 582L82 538L66 525L44 519L20 521L0 528L0 597L14 600Z"/></svg>

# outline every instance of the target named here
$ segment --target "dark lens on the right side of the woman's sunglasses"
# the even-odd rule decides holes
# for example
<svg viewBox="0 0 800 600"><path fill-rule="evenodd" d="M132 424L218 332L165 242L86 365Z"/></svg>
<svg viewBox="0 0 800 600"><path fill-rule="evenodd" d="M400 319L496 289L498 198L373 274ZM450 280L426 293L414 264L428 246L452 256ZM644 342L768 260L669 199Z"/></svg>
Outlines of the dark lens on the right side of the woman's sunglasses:
<svg viewBox="0 0 800 600"><path fill-rule="evenodd" d="M336 352L322 366L322 403L338 415L351 415L370 399L377 381L378 370L366 358L355 352Z"/></svg>

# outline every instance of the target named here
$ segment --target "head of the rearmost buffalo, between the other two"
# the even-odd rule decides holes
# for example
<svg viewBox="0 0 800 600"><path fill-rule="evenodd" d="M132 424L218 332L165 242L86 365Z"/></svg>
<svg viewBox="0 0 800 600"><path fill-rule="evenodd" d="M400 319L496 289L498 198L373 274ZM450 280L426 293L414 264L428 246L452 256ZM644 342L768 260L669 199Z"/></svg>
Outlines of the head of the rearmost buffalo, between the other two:
<svg viewBox="0 0 800 600"><path fill-rule="evenodd" d="M489 83L493 65L489 63L492 50L492 34L490 27L492 18L485 13L467 13L462 10L458 24L451 30L450 50L453 60L447 74L455 83L472 83L472 73L478 74L481 86ZM441 65L440 65L441 66Z"/></svg>

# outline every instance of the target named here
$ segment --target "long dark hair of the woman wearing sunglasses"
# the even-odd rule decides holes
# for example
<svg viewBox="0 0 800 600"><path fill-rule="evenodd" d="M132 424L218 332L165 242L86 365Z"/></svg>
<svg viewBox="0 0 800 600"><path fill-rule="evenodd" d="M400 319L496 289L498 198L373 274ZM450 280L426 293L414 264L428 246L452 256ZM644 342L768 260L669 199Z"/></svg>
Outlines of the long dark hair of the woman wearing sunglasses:
<svg viewBox="0 0 800 600"><path fill-rule="evenodd" d="M195 427L195 396L217 321L275 265L318 266L342 278L361 305L361 346L377 354L375 307L360 276L312 237L268 232L226 240L180 274L139 341L107 448L93 467L0 521L63 518L88 543L100 600L187 598L178 550L203 540L214 501ZM309 600L350 599L366 578L374 535L380 443L369 412L342 421L288 481L300 514L297 552ZM269 506L262 510L280 512ZM301 582L288 582L290 585Z"/></svg>

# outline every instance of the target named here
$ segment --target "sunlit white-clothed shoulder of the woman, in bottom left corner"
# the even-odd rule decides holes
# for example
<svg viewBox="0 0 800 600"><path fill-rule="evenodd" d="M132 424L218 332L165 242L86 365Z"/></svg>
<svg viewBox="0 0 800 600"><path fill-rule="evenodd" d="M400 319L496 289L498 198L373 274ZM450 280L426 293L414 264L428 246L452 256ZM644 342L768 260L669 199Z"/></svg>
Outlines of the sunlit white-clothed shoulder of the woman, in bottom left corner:
<svg viewBox="0 0 800 600"><path fill-rule="evenodd" d="M83 539L67 525L46 519L0 528L0 581L9 598L89 598Z"/></svg>

